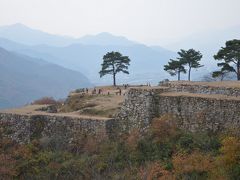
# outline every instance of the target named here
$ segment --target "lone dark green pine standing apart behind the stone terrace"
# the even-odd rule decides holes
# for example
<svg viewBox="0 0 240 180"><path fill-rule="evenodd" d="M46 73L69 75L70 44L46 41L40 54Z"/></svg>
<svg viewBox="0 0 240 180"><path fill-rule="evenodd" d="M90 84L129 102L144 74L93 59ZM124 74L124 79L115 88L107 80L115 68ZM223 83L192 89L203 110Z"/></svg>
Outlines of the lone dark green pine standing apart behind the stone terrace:
<svg viewBox="0 0 240 180"><path fill-rule="evenodd" d="M129 74L129 65L130 59L128 56L123 56L119 52L108 52L103 56L102 69L99 72L100 77L111 74L113 76L113 85L116 86L116 74L119 72Z"/></svg>

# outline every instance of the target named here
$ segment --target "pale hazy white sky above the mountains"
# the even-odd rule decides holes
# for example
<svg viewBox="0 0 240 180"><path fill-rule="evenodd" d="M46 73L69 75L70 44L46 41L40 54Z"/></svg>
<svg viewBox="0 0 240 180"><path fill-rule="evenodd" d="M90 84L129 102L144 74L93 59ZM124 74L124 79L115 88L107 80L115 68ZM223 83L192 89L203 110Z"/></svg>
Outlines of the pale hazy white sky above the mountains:
<svg viewBox="0 0 240 180"><path fill-rule="evenodd" d="M0 25L80 37L110 32L162 44L240 25L240 0L0 0Z"/></svg>

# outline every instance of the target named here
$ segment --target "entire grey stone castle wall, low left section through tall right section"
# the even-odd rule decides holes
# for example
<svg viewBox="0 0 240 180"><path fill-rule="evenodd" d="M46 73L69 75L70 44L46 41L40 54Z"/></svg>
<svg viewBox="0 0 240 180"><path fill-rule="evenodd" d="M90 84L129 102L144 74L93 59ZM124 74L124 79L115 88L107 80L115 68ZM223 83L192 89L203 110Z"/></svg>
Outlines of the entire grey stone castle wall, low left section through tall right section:
<svg viewBox="0 0 240 180"><path fill-rule="evenodd" d="M153 118L165 114L173 115L179 128L193 132L240 128L240 91L198 86L131 88L114 119L0 113L0 130L5 126L4 134L20 143L57 137L69 144L84 134L107 138L145 131Z"/></svg>

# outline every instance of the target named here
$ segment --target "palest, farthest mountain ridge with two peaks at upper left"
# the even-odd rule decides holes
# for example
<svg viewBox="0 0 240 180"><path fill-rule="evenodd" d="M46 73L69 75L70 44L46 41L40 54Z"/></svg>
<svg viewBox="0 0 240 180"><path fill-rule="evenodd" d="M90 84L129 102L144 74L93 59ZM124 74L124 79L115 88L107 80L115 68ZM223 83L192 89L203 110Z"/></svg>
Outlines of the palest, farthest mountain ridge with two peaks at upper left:
<svg viewBox="0 0 240 180"><path fill-rule="evenodd" d="M125 37L113 36L106 32L97 35L87 35L81 38L72 38L42 32L20 23L9 26L0 26L0 37L25 45L46 44L50 46L68 46L73 43L79 43L86 45L129 46L135 44L135 42L132 42Z"/></svg>

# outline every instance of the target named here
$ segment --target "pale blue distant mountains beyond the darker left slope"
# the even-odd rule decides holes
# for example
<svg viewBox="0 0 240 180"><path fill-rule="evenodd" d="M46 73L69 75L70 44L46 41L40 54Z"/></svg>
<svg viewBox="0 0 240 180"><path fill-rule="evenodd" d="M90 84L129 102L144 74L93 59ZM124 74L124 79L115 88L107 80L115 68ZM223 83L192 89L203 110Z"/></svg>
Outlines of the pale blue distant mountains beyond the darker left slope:
<svg viewBox="0 0 240 180"><path fill-rule="evenodd" d="M80 71L97 85L110 84L112 82L111 76L100 79L98 74L101 68L102 57L109 51L120 51L131 59L130 75L118 75L118 83L157 83L159 80L171 78L163 70L163 65L170 58L176 58L177 56L175 52L160 46L146 46L130 41L125 37L114 36L109 33L88 35L74 39L51 35L16 24L0 27L0 37L2 37L0 38L0 46L8 50L34 58L41 58L50 63ZM212 46L215 48L218 46L216 42L219 36L215 38L214 36L196 36L195 38L186 44L180 42L178 45L172 45L171 48L179 50L180 48L193 47L201 50L201 41L204 42L201 47L205 50L212 49ZM204 38L213 38L211 40L212 43L205 43L206 40L203 40ZM177 48L173 48L174 46ZM216 68L216 62L213 60L209 61L212 56L209 56L205 51L202 52L205 66L197 72L193 72L193 79L199 79L202 74L206 74Z"/></svg>

